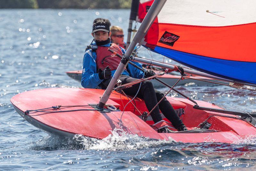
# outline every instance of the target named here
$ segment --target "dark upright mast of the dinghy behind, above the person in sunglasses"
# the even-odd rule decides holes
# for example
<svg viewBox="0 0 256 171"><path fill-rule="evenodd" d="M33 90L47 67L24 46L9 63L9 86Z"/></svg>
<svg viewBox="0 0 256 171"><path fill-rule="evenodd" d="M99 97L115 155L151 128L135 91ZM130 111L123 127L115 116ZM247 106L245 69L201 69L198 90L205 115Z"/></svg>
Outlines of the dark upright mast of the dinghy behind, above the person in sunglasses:
<svg viewBox="0 0 256 171"><path fill-rule="evenodd" d="M140 3L140 0L132 0L126 47L128 47L131 43L132 22L136 20L138 10L139 10L139 3Z"/></svg>

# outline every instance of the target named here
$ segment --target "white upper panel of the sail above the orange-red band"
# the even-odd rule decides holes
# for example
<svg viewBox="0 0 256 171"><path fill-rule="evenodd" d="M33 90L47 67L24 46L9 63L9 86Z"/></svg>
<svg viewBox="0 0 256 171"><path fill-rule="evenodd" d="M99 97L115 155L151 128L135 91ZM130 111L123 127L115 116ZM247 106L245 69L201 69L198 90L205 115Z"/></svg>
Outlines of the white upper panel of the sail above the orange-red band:
<svg viewBox="0 0 256 171"><path fill-rule="evenodd" d="M158 22L213 27L253 23L255 6L255 0L167 0Z"/></svg>

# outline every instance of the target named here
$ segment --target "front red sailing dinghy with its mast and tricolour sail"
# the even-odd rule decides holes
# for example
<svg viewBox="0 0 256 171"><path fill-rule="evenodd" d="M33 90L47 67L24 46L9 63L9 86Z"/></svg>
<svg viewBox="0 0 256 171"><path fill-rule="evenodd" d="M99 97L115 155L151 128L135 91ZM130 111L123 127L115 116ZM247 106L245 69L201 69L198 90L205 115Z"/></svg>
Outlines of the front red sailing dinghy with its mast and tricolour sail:
<svg viewBox="0 0 256 171"><path fill-rule="evenodd" d="M224 2L220 0L185 0L182 1L182 3L178 0L166 2L165 0L159 0L154 2L123 58L145 64L162 66L163 68L170 70L174 68L174 66L171 65L130 57L136 44L143 40L144 45L151 48L152 51L160 54L167 54L166 56L170 54L170 58L175 57L175 60L177 61L181 60L182 63L187 64L188 66L195 66L195 68L199 70L202 69L206 73L209 73L202 73L201 76L229 82L229 85L232 85L233 87L255 87L256 71L252 68L256 67L256 58L255 54L249 51L252 47L256 47L256 42L251 41L252 38L255 40L254 30L256 29L256 12L255 10L248 10L255 5L252 0L246 2L241 1L240 3L243 4L243 8L240 8L239 3L232 3L229 1ZM166 6L168 8L165 8ZM179 9L179 6L181 9L176 10ZM245 8L247 6L248 9ZM227 7L227 9L225 7ZM203 10L200 11L197 8ZM175 10L174 13L169 14L173 9ZM185 9L189 9L190 12L187 13ZM208 9L211 13L205 12ZM244 9L250 11L250 13L241 12L241 10ZM174 24L170 24L172 23L171 20L175 19L174 17L165 17L164 19L162 18L162 20L159 19L159 16L163 16L164 14L168 14L169 16L175 15L175 12L183 12L185 13L183 15L186 15L186 17L179 14L182 20L175 20L175 22L173 22ZM222 17L215 15L216 12L219 12L218 15L220 14ZM156 15L158 15L157 18ZM190 25L186 25L188 23L183 23L182 25L184 18L190 22ZM238 18L238 20L236 20L236 18ZM157 23L160 20L162 23ZM196 21L198 20L201 24L204 23L204 25L196 24ZM152 24L153 21L155 22ZM232 22L230 23L228 21ZM246 24L240 21L251 24ZM166 24L164 24L164 22ZM227 23L227 25L224 25L224 23ZM235 26L233 26L234 24ZM192 27L192 32L194 34L190 33L189 29L187 30L189 33L184 31L187 27ZM236 35L235 33L237 32L232 32L233 27L235 30L246 30L246 34L248 34L247 39L241 39L239 40L239 43L231 42L230 44L225 42L226 38L232 38L232 36L233 38L235 37L234 35ZM209 34L214 34L212 35L213 37L209 37L210 35L206 34L208 33L207 28L210 29ZM155 30L155 34L151 33L146 35L148 29L149 32ZM223 29L227 29L225 36L220 34ZM171 33L171 35L176 35L176 38L179 36L179 38L175 39L175 42L169 41L166 44L162 39L162 35L165 31ZM206 35L203 36L200 34L206 34L208 38L211 39L206 40ZM217 36L218 34L220 34L220 36ZM146 39L143 39L145 35ZM189 39L189 37L191 37L191 39ZM160 41L161 39L162 41ZM168 38L166 39L172 40ZM224 43L214 44L215 41L220 43L222 40ZM203 41L203 43L200 43L201 41ZM206 53L208 48L206 46L207 41L210 41L211 43L209 53L212 52L212 56L209 56L209 53ZM233 39L230 41L233 41ZM169 46L170 43L172 43L172 46ZM191 45L191 48L189 44ZM236 46L235 48L231 48L231 45ZM248 46L248 52L247 49L244 49L242 51L243 53L241 53L240 45L243 47ZM203 52L199 53L202 46L204 46ZM216 53L213 53L214 51L212 51L212 48L216 47L218 49L215 49ZM188 51L186 51L186 48L188 48ZM219 55L220 58L218 58ZM226 55L231 55L234 59L228 59L228 56ZM238 60L237 57L239 56L241 56L241 58ZM244 56L248 59L243 58ZM185 61L186 58L196 58L196 61L192 59ZM212 66L213 64L214 66ZM237 64L236 70L232 68L235 64ZM247 67L243 67L240 64L246 65ZM117 91L112 91L124 66L125 64L122 62L119 64L119 67L106 90L78 88L37 89L23 92L12 97L11 103L15 110L29 123L37 128L47 131L49 134L58 136L81 134L88 137L103 139L116 129L133 135L160 140L169 140L169 138L171 138L174 141L184 143L235 143L247 137L256 136L255 126L245 120L247 118L253 120L252 117L255 117L255 114L228 111L218 105L203 101L194 101L182 93L180 94L186 98L167 97L167 99L180 115L180 118L188 127L188 130L178 132L166 118L154 124L150 116L146 118L145 115L143 117L141 115L143 112L148 112L143 99L136 97L131 101L133 97L126 97ZM207 68L206 66L209 67ZM250 74L242 77L237 73L242 71L242 69L244 69L243 73L250 71ZM188 69L184 69L184 71L185 73L195 73ZM199 72L196 74L198 75ZM155 79L157 80L157 78ZM173 90L177 91L175 89ZM129 101L131 101L131 103L124 109L124 106ZM104 107L104 109L102 109L102 107ZM157 132L158 129L164 127L170 128L173 132Z"/></svg>

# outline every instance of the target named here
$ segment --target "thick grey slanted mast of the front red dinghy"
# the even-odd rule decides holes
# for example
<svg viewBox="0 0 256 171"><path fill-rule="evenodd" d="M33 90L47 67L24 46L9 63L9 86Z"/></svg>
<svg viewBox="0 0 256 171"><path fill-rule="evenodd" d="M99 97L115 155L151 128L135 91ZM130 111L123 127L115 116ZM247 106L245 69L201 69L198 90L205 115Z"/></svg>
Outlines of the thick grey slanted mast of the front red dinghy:
<svg viewBox="0 0 256 171"><path fill-rule="evenodd" d="M166 0L157 0L157 1L154 1L153 4L151 5L150 9L148 10L147 15L145 16L145 18L143 19L143 21L140 25L138 32L134 36L131 44L129 45L127 51L124 54L123 59L121 60L119 66L117 67L115 74L113 75L110 83L108 84L107 89L104 91L104 94L100 99L100 102L98 104L98 106L100 108L103 108L105 106L105 104L107 103L108 98L109 98L113 88L115 87L119 76L122 74L124 67L128 63L128 59L130 59L132 51L134 50L137 43L140 43L141 40L143 39L143 37L146 35L149 27L152 25L152 23L156 19L156 16L163 8L165 2L166 2Z"/></svg>

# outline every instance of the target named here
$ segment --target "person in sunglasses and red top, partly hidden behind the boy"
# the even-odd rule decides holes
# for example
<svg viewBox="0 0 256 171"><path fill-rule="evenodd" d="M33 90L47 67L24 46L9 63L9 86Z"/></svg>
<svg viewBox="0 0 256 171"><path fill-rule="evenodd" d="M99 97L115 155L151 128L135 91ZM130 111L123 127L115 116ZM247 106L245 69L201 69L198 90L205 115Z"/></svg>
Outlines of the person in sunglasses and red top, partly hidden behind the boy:
<svg viewBox="0 0 256 171"><path fill-rule="evenodd" d="M124 43L124 31L119 26L111 26L110 27L111 32L111 42L117 44L118 46L126 49L126 44Z"/></svg>

